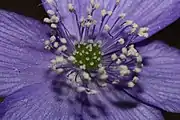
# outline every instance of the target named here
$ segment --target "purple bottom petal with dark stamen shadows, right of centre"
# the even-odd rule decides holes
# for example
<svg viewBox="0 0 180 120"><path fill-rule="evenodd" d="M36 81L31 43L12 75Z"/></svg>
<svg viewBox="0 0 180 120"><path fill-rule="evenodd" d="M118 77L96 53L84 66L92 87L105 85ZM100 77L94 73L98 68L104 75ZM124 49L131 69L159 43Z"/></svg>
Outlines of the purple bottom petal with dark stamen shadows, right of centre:
<svg viewBox="0 0 180 120"><path fill-rule="evenodd" d="M97 95L90 95L89 108L97 120L163 120L161 112L146 106L129 97L127 94L114 88L100 88ZM86 119L89 114L83 113Z"/></svg>

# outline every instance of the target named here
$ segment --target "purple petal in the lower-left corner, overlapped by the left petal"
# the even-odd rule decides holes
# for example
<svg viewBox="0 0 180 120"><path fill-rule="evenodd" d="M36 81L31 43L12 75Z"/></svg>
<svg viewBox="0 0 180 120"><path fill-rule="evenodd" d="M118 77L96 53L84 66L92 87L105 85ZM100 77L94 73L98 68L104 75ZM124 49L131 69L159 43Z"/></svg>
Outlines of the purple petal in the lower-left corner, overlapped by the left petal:
<svg viewBox="0 0 180 120"><path fill-rule="evenodd" d="M65 99L66 97L64 97ZM68 120L67 101L58 101L48 83L24 87L6 97L2 120Z"/></svg>

